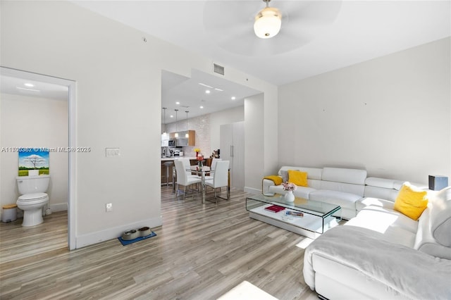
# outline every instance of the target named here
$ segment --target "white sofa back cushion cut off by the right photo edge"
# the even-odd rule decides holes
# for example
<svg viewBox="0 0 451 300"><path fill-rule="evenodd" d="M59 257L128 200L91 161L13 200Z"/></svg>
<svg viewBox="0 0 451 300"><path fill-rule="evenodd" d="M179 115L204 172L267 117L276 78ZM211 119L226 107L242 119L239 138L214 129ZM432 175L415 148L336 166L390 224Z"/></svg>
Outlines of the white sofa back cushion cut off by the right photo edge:
<svg viewBox="0 0 451 300"><path fill-rule="evenodd" d="M437 242L451 247L451 187L431 193L430 226Z"/></svg>

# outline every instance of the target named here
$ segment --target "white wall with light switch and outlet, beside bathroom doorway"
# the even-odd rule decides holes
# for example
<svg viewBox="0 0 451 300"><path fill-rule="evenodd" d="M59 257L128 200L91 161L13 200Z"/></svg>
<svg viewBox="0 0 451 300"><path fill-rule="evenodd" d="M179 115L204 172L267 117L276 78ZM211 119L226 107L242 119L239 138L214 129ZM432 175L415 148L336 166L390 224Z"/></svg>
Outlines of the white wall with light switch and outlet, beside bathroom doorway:
<svg viewBox="0 0 451 300"><path fill-rule="evenodd" d="M161 70L212 74L211 59L68 1L1 1L0 6L1 65L77 85L76 142L92 152L75 156L76 247L130 228L161 225ZM275 86L226 68L225 79L268 92L265 103L277 106ZM120 148L121 156L106 158L106 147ZM113 204L111 213L106 203Z"/></svg>

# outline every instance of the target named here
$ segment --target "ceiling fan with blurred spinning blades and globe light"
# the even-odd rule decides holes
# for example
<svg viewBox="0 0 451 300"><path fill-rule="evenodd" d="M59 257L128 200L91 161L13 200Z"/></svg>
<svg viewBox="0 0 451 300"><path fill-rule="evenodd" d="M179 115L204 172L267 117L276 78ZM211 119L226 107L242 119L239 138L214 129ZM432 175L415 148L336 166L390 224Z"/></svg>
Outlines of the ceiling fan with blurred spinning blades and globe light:
<svg viewBox="0 0 451 300"><path fill-rule="evenodd" d="M261 6L261 1L266 7ZM222 49L242 56L271 56L297 49L327 30L340 12L342 1L207 0L204 29ZM268 20L276 30L261 30ZM266 35L267 34L267 35Z"/></svg>

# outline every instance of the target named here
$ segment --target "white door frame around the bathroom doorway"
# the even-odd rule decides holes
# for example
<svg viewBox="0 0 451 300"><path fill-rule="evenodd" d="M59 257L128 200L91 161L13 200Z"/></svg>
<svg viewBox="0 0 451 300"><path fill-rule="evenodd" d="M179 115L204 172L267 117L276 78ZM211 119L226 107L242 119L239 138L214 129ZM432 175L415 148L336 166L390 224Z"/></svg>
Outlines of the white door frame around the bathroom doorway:
<svg viewBox="0 0 451 300"><path fill-rule="evenodd" d="M35 80L40 82L47 82L54 85L63 85L68 87L68 147L69 149L76 149L76 135L75 135L75 91L76 82L63 78L53 77L49 75L42 75L38 73L31 73L23 70L13 68L6 68L0 66L0 72L3 75L10 77L19 77L27 80ZM75 219L75 201L76 201L76 185L75 185L75 159L76 152L68 151L68 248L73 250L76 248L76 219Z"/></svg>

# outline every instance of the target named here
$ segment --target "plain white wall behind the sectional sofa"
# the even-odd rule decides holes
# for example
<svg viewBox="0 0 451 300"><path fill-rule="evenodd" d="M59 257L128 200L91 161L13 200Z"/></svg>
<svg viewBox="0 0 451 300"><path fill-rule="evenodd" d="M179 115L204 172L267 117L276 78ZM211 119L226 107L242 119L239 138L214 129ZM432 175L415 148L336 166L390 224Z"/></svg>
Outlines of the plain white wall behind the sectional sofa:
<svg viewBox="0 0 451 300"><path fill-rule="evenodd" d="M450 38L279 87L280 165L451 177Z"/></svg>

